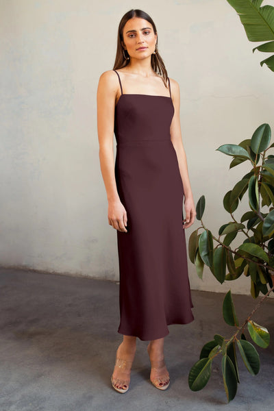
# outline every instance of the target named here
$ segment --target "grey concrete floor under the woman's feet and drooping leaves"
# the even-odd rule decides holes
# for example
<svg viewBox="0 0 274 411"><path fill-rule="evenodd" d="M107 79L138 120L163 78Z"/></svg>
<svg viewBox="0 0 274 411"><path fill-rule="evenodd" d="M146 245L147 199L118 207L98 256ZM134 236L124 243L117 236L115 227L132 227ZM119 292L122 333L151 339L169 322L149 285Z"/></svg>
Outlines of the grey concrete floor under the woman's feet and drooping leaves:
<svg viewBox="0 0 274 411"><path fill-rule="evenodd" d="M271 333L269 348L257 348L260 373L251 376L239 359L238 393L227 404L219 358L206 388L197 393L188 388L188 372L203 344L216 333L226 338L233 333L222 319L223 294L192 291L195 321L169 326L166 391L149 382L147 342L137 339L130 387L121 395L110 384L122 339L116 332L116 282L0 269L0 292L1 411L273 410L273 299L253 318ZM235 295L234 302L243 321L257 301Z"/></svg>

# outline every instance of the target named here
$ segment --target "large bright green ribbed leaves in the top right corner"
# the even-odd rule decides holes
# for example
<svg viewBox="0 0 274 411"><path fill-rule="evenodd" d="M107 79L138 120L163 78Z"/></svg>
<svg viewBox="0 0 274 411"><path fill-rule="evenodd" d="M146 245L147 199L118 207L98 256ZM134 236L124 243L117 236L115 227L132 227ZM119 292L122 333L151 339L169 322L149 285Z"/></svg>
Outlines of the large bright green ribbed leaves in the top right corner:
<svg viewBox="0 0 274 411"><path fill-rule="evenodd" d="M264 5L260 7L263 0L227 0L240 16L240 21L245 27L249 41L274 40L274 7ZM253 49L263 53L274 52L274 41L268 41ZM274 71L274 55L260 62L261 66L266 64Z"/></svg>

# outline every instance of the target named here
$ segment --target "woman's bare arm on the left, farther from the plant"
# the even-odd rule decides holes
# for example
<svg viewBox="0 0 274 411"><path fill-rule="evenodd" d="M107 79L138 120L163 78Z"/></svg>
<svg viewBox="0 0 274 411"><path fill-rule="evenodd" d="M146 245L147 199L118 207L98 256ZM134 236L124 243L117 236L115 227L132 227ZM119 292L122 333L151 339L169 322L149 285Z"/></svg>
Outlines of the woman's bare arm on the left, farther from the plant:
<svg viewBox="0 0 274 411"><path fill-rule="evenodd" d="M114 110L118 78L114 71L105 71L97 88L97 131L99 159L108 197L108 223L119 231L127 232L127 212L120 201L114 171Z"/></svg>

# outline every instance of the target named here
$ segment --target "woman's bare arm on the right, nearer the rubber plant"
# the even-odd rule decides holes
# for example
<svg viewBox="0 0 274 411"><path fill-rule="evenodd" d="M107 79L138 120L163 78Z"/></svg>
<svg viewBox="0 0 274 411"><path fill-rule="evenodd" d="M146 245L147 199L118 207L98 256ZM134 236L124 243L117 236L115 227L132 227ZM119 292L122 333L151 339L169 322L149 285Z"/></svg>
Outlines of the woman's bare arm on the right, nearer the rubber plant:
<svg viewBox="0 0 274 411"><path fill-rule="evenodd" d="M177 154L177 159L179 163L179 171L182 177L182 182L184 186L184 208L186 211L184 223L184 228L190 227L195 221L196 210L195 203L192 195L192 190L190 186L190 180L188 176L188 164L186 161L186 152L184 151L184 145L182 142L181 125L179 119L179 107L180 107L180 93L179 84L174 80L171 81L171 96L174 105L174 116L171 122L171 142Z"/></svg>

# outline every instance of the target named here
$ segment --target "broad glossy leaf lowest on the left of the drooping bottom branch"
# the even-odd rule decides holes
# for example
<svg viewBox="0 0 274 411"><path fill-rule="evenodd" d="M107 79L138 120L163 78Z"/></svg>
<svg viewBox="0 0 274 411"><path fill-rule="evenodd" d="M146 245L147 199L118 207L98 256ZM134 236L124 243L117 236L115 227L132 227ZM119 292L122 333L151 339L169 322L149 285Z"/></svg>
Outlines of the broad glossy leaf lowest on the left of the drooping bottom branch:
<svg viewBox="0 0 274 411"><path fill-rule="evenodd" d="M212 360L202 358L197 361L188 374L188 386L192 391L199 391L208 384L211 375Z"/></svg>

